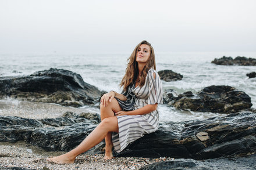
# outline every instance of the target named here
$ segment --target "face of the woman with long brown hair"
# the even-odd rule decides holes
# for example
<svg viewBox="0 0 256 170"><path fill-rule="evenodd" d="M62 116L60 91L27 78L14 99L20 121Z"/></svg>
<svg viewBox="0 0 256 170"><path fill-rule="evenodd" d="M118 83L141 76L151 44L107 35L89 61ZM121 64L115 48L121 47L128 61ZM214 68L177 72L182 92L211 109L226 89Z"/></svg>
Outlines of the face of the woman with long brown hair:
<svg viewBox="0 0 256 170"><path fill-rule="evenodd" d="M147 44L141 44L137 51L136 62L147 63L149 58L150 58L150 46L148 46Z"/></svg>

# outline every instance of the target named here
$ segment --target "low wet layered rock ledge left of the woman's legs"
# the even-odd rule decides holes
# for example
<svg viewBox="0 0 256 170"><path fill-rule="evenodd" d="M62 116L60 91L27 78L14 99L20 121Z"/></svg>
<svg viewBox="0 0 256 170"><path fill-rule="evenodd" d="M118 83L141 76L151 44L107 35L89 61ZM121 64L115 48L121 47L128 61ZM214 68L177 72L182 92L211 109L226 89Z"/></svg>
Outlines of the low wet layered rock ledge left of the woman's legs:
<svg viewBox="0 0 256 170"><path fill-rule="evenodd" d="M91 117L94 115L91 114ZM0 142L23 140L45 150L69 151L80 144L98 125L98 120L88 120L83 114L73 116L42 120L0 116Z"/></svg>

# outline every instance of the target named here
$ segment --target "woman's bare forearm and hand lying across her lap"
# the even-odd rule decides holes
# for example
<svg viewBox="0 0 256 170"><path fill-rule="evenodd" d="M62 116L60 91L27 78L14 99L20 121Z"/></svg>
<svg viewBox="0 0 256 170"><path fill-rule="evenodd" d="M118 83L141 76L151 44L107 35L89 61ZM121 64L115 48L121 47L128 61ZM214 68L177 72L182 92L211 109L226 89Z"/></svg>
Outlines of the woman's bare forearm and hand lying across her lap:
<svg viewBox="0 0 256 170"><path fill-rule="evenodd" d="M158 103L155 104L147 104L144 107L138 108L136 110L132 110L132 111L118 111L117 113L115 113L115 115L142 115L142 114L148 114L151 113L154 110L157 110L157 106Z"/></svg>

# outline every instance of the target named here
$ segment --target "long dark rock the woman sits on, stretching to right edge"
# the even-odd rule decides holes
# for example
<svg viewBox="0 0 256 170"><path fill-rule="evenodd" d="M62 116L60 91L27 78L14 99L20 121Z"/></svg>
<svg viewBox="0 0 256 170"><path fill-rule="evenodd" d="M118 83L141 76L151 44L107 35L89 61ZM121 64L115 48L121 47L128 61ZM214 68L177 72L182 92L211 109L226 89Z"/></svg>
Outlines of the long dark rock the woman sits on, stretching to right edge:
<svg viewBox="0 0 256 170"><path fill-rule="evenodd" d="M200 138L200 133L204 138ZM256 114L251 112L202 121L165 122L159 125L158 131L129 144L116 156L196 160L243 157L256 152L255 136Z"/></svg>

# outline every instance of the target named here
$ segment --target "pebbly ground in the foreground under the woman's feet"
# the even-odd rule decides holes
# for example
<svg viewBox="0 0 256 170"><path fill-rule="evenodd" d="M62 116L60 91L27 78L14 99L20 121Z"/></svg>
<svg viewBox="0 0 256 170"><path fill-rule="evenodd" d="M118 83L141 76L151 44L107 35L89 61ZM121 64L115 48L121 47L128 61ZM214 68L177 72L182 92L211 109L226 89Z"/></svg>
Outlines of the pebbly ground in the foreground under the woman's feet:
<svg viewBox="0 0 256 170"><path fill-rule="evenodd" d="M45 158L60 155L63 151L44 151L40 147L26 142L0 142L1 168L29 168L29 169L138 169L145 165L159 161L174 160L174 158L137 158L117 157L105 161L104 154L81 154L74 164L53 164Z"/></svg>

